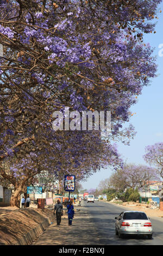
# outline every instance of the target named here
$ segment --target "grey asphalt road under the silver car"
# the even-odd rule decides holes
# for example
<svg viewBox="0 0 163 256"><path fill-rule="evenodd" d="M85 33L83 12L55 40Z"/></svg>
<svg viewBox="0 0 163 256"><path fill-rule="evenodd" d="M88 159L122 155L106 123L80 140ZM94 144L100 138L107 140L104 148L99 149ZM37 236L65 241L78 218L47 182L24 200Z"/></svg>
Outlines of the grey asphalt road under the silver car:
<svg viewBox="0 0 163 256"><path fill-rule="evenodd" d="M98 239L101 245L163 245L163 220L159 217L150 218L153 226L153 239L147 236L126 236L120 239L115 235L115 217L123 210L104 202L86 203L82 202L91 217L91 222L97 229Z"/></svg>

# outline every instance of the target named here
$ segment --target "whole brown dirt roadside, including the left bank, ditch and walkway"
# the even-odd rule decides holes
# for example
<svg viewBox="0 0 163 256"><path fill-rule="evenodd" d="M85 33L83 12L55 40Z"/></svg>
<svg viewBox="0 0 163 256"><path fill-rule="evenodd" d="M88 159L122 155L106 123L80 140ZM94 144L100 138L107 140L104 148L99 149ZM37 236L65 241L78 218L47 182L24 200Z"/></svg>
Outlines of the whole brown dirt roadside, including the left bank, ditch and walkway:
<svg viewBox="0 0 163 256"><path fill-rule="evenodd" d="M77 208L80 211L77 211ZM0 245L97 245L98 237L84 206L74 205L72 226L68 226L66 209L57 226L52 209L35 205L19 209L0 208ZM80 237L80 239L79 239ZM63 242L64 241L64 242Z"/></svg>

